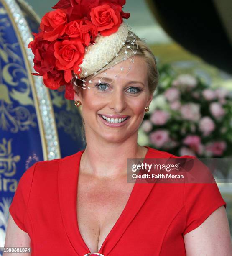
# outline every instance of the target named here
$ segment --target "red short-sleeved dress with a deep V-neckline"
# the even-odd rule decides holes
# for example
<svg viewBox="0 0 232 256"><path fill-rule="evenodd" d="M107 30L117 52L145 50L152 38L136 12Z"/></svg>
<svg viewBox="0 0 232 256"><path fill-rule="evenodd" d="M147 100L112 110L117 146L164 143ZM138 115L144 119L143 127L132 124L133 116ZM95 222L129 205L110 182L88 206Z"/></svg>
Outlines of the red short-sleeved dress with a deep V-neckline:
<svg viewBox="0 0 232 256"><path fill-rule="evenodd" d="M145 158L177 157L146 148ZM19 228L29 234L33 256L90 253L80 235L76 212L83 152L37 162L20 179L10 214ZM183 236L222 205L226 207L226 202L216 183L135 183L124 210L98 253L185 256Z"/></svg>

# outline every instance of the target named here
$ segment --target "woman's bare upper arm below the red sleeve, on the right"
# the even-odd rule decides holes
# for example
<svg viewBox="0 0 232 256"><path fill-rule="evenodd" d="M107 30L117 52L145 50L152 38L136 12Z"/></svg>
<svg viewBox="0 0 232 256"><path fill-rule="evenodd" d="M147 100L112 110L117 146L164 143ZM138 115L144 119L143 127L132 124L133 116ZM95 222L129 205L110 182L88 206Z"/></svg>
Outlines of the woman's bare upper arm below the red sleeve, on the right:
<svg viewBox="0 0 232 256"><path fill-rule="evenodd" d="M187 256L232 256L232 244L225 207L217 208L199 227L186 233L184 243Z"/></svg>

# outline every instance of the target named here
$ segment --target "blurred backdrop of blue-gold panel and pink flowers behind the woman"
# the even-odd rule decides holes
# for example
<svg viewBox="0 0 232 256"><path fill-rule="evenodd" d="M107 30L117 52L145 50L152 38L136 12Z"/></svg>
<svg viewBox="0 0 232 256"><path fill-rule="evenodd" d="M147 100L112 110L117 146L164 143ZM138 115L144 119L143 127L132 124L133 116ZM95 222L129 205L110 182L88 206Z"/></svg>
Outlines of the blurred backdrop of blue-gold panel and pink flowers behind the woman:
<svg viewBox="0 0 232 256"><path fill-rule="evenodd" d="M0 0L0 247L25 169L85 147L73 102L30 74L27 45L56 2ZM232 159L232 2L127 0L123 9L160 72L138 143L178 156ZM215 178L232 232L231 168L218 167Z"/></svg>

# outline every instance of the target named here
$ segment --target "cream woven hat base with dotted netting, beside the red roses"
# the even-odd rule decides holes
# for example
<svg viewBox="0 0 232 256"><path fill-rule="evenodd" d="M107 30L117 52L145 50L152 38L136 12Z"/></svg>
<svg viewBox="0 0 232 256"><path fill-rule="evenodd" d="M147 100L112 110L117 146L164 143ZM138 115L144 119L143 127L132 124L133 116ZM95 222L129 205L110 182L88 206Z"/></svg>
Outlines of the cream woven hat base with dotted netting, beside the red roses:
<svg viewBox="0 0 232 256"><path fill-rule="evenodd" d="M85 83L89 82L92 83L91 80L86 80L86 77L91 76L91 79L101 73L104 67L112 62L111 69L113 66L123 60L129 60L130 64L128 67L128 72L131 69L131 64L134 62L134 56L137 53L138 45L132 29L125 23L122 23L121 26L118 28L118 31L111 34L110 36L101 36L98 35L95 43L90 44L85 49L85 55L80 68L82 72L79 74L74 74L73 84L75 86L81 87L82 89L90 89ZM128 35L131 40L128 40ZM121 51L123 48L123 51ZM120 54L122 56L120 56ZM117 61L120 59L120 61ZM124 67L120 68L121 71L124 70ZM117 77L120 73L115 74ZM107 71L102 73L104 77L107 76ZM99 82L100 78L99 78Z"/></svg>

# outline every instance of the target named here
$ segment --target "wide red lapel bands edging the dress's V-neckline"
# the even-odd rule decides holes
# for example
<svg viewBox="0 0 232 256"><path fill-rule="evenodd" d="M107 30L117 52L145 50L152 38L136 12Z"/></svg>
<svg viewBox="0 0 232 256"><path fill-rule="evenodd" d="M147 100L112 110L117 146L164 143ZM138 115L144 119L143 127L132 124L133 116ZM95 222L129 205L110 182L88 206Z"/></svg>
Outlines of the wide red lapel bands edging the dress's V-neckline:
<svg viewBox="0 0 232 256"><path fill-rule="evenodd" d="M145 147L148 148L148 151L144 159L152 158L151 148L148 146ZM79 151L61 160L58 172L59 200L64 229L71 245L79 256L91 253L79 231L76 207L79 166L83 152L84 150ZM96 253L106 256L112 251L117 241L119 241L126 228L130 225L130 222L142 207L154 184L135 182L124 209L103 241L101 248Z"/></svg>

